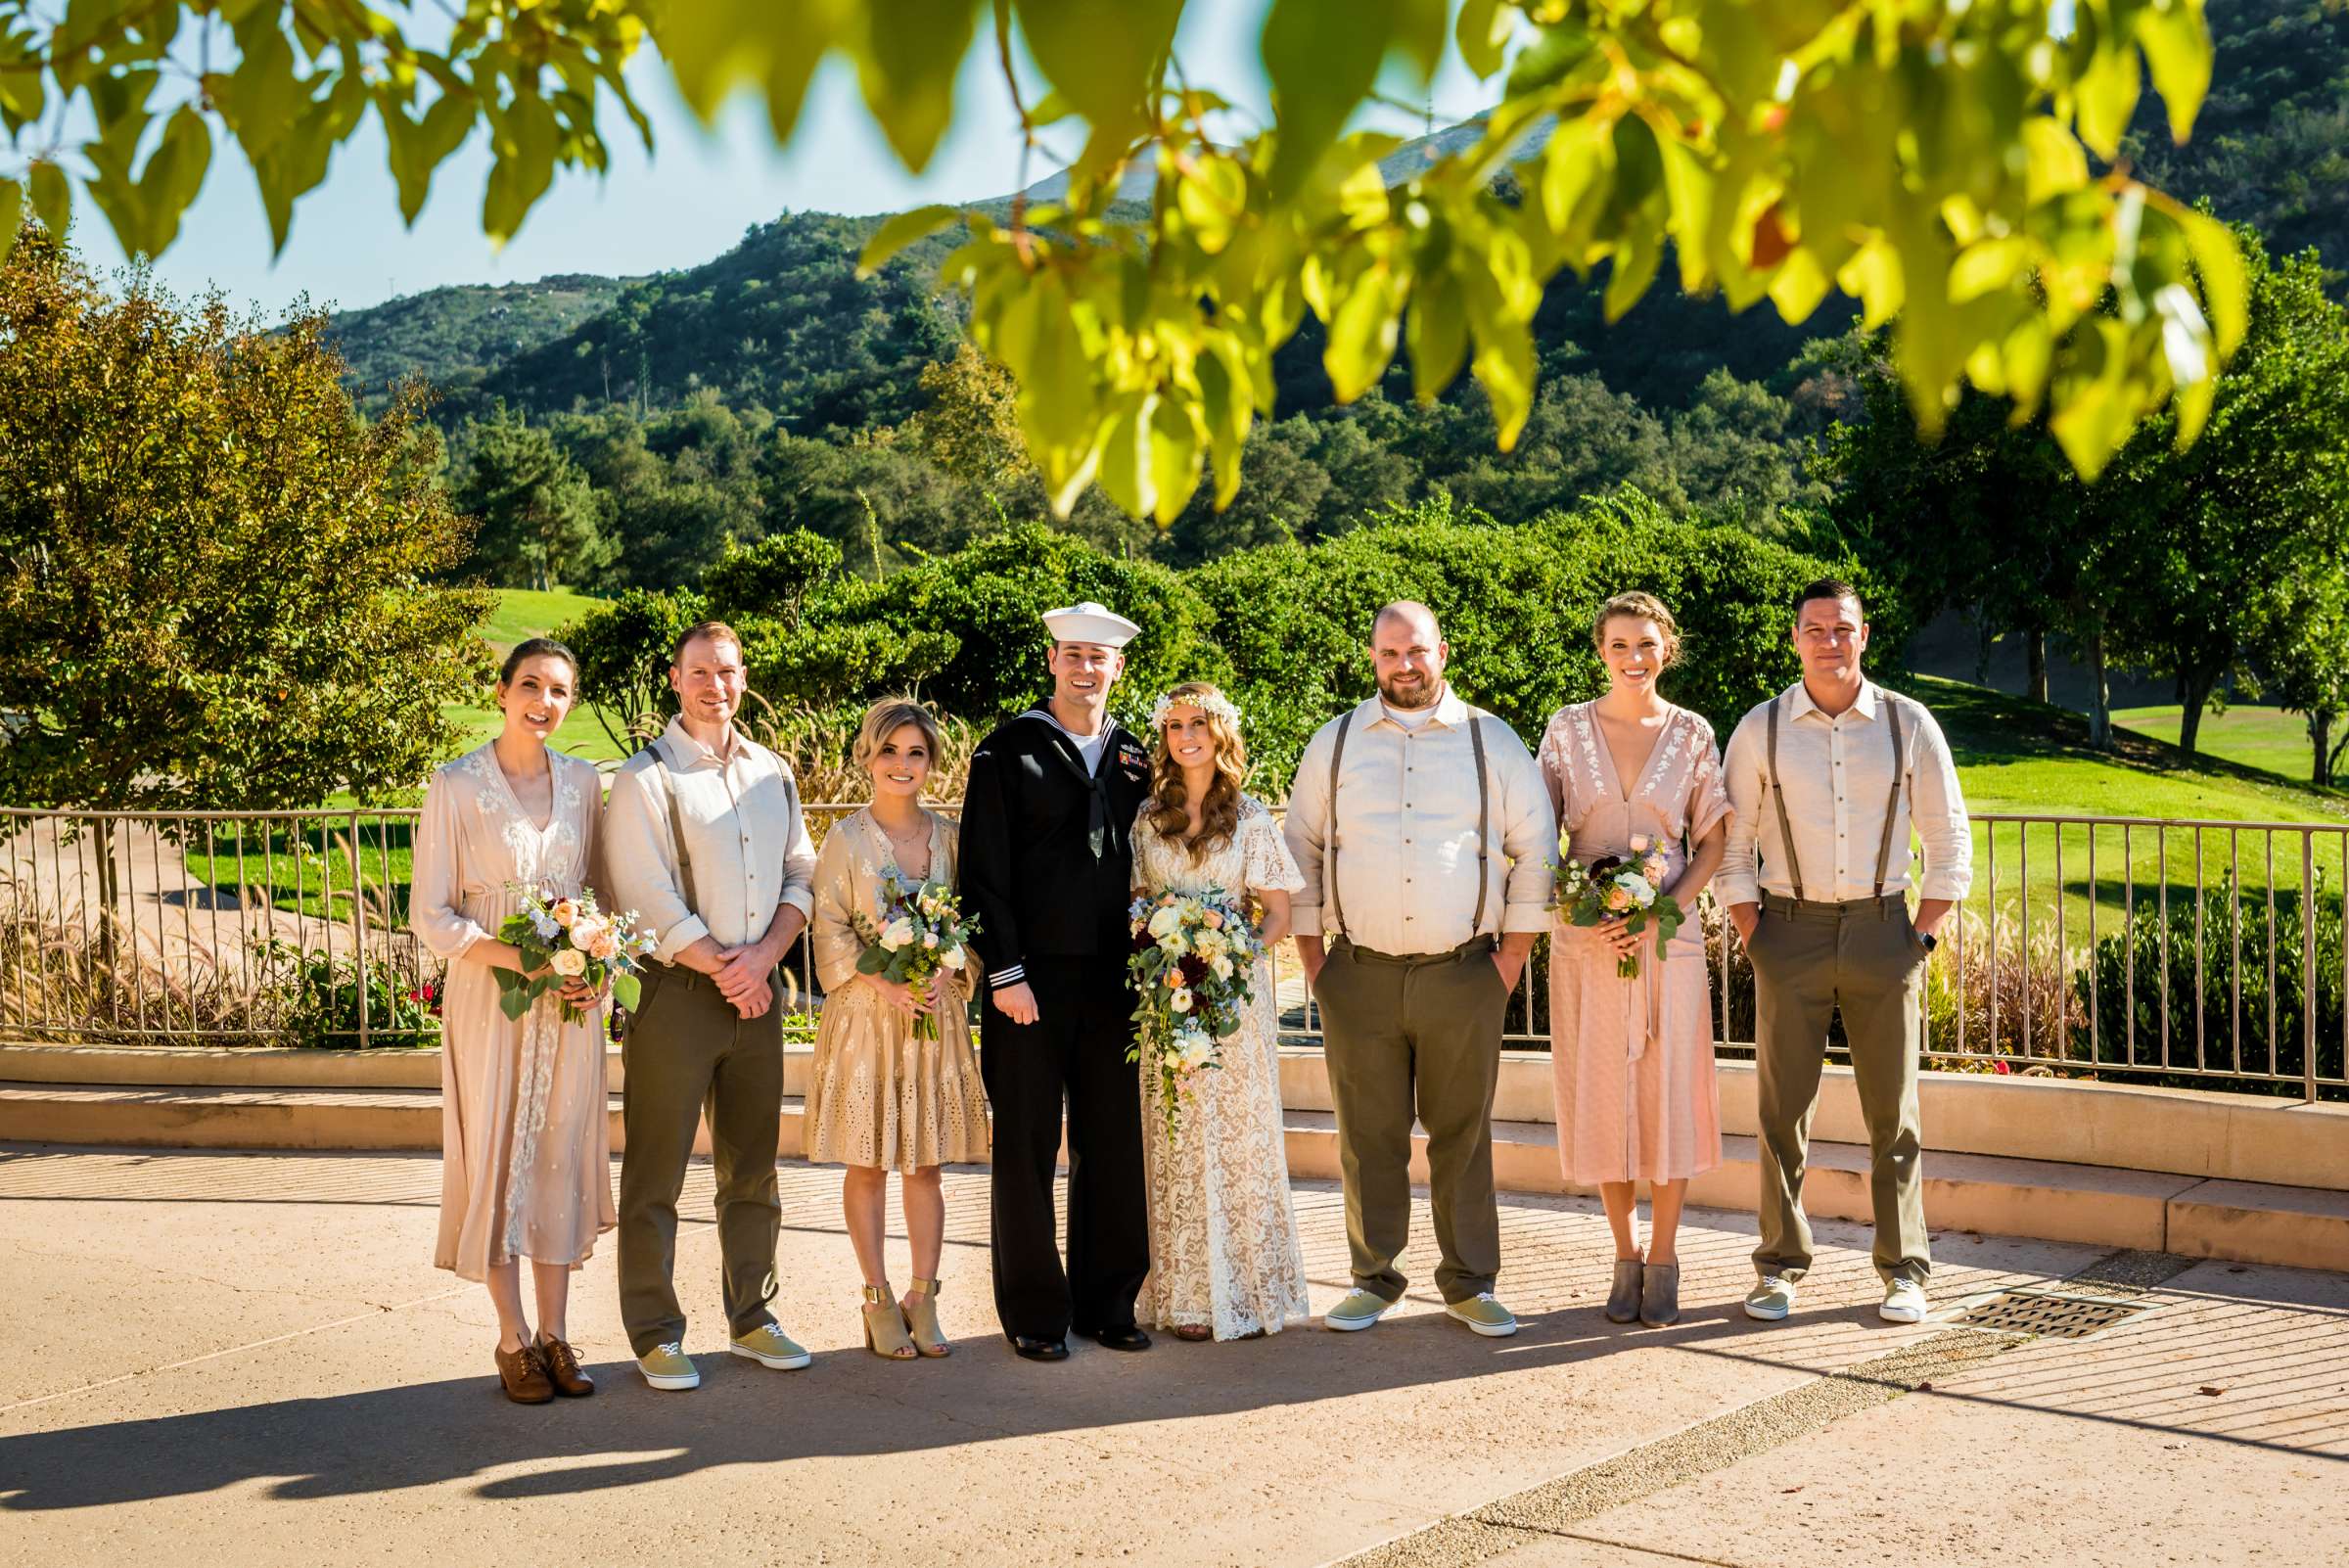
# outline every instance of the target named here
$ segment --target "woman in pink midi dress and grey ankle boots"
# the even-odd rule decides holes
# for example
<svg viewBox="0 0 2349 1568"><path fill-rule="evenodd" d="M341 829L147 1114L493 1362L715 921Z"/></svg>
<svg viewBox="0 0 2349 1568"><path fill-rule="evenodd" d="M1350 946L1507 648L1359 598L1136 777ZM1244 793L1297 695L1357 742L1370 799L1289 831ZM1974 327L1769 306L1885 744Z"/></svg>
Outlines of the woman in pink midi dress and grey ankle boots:
<svg viewBox="0 0 2349 1568"><path fill-rule="evenodd" d="M1607 1319L1680 1319L1680 1204L1689 1176L1722 1162L1712 1082L1712 1005L1696 899L1722 864L1729 796L1712 725L1656 692L1680 653L1672 613L1649 594L1600 606L1593 629L1607 695L1560 709L1541 737L1541 777L1557 810L1562 854L1583 864L1628 854L1633 838L1661 845L1668 892L1689 922L1658 962L1654 932L1550 925L1550 1068L1557 1089L1557 1160L1574 1185L1595 1185L1614 1228L1616 1268ZM1640 953L1640 976L1616 974ZM1635 1192L1649 1183L1654 1216L1640 1251Z"/></svg>

